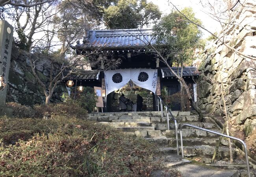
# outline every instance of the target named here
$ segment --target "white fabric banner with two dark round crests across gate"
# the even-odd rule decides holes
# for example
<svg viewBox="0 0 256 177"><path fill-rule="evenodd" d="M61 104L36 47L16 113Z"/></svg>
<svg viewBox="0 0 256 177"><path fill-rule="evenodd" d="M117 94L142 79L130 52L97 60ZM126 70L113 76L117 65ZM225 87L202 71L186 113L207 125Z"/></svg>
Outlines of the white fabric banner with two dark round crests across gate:
<svg viewBox="0 0 256 177"><path fill-rule="evenodd" d="M118 69L104 71L106 95L124 87L130 80L139 87L156 92L157 69Z"/></svg>

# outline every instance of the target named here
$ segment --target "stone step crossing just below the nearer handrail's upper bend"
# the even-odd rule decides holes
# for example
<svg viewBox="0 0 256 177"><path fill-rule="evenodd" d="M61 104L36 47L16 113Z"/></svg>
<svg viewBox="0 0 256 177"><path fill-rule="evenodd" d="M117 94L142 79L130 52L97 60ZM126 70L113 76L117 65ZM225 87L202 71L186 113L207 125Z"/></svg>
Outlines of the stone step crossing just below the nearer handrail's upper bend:
<svg viewBox="0 0 256 177"><path fill-rule="evenodd" d="M221 133L221 130L219 130L219 129L213 129L212 131ZM166 130L165 136L167 138L175 138L176 137L175 130ZM180 130L178 130L178 137L180 137ZM202 130L198 130L198 129L182 129L182 137L183 138L188 138L188 137L217 138L217 137L219 137L219 135L215 135L213 133L208 133L206 131L202 131Z"/></svg>

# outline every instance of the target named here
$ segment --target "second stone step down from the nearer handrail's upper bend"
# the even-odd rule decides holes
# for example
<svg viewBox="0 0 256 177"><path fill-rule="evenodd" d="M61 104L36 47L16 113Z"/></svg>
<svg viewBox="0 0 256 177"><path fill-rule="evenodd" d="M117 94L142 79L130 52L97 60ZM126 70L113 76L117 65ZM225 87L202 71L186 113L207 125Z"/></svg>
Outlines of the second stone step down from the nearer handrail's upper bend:
<svg viewBox="0 0 256 177"><path fill-rule="evenodd" d="M176 147L176 138L168 138L169 145ZM216 146L219 138L183 138L183 146L209 145ZM178 139L180 145L180 139ZM228 146L228 141L222 138L221 146Z"/></svg>

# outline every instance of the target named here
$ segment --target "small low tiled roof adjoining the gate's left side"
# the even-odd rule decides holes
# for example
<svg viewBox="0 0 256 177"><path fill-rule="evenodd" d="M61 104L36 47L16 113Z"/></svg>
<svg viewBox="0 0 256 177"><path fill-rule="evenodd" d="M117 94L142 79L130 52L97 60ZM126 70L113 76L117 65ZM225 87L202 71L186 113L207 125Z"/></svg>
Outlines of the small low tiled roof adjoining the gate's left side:
<svg viewBox="0 0 256 177"><path fill-rule="evenodd" d="M69 71L64 71L63 75L66 76ZM84 70L78 73L72 73L70 76L67 77L67 80L85 80L85 79L98 79L98 71L96 70Z"/></svg>

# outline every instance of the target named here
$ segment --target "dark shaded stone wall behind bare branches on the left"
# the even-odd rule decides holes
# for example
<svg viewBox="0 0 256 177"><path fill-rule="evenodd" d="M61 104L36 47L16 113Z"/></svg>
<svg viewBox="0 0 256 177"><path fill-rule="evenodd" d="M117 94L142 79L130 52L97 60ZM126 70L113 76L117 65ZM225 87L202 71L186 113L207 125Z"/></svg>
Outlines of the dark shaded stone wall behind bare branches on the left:
<svg viewBox="0 0 256 177"><path fill-rule="evenodd" d="M36 67L39 78L47 86L50 84L50 63L46 56L37 56L39 63L43 65ZM54 74L58 72L59 66L54 64ZM67 92L64 83L58 85L52 96L51 102L59 102L63 92ZM37 79L32 73L28 53L19 51L16 47L12 48L11 64L9 71L9 83L6 102L17 102L22 105L34 105L45 103L43 88L38 84Z"/></svg>

